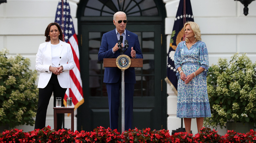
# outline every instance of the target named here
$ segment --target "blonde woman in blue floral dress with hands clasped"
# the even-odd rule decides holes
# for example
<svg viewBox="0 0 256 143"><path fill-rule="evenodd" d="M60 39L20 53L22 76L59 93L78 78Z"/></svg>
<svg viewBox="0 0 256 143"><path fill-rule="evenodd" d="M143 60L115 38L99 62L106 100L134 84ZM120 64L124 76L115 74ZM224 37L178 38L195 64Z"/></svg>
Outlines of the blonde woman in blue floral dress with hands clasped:
<svg viewBox="0 0 256 143"><path fill-rule="evenodd" d="M177 117L184 118L187 133L191 119L196 118L197 130L203 128L204 117L211 117L206 75L209 67L206 45L201 41L198 24L184 24L185 41L175 51L174 63L178 77Z"/></svg>

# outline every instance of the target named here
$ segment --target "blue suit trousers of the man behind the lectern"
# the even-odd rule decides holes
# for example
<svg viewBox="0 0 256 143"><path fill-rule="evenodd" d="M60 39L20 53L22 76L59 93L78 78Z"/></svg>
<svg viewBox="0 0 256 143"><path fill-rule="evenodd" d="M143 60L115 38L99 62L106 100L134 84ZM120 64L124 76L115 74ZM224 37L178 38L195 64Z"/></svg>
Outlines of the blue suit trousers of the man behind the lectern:
<svg viewBox="0 0 256 143"><path fill-rule="evenodd" d="M132 129L134 84L125 83L124 87L125 87L124 130L128 131L129 129ZM118 110L120 106L120 96L121 96L120 94L121 78L117 83L106 83L106 88L108 93L110 128L114 130L114 129L118 129Z"/></svg>

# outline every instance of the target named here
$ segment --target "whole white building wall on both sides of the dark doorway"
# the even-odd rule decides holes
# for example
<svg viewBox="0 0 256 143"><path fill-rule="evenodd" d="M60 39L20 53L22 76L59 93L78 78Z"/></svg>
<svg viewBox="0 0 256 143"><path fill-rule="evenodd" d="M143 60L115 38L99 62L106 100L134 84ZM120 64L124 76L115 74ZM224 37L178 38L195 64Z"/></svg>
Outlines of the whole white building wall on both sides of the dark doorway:
<svg viewBox="0 0 256 143"><path fill-rule="evenodd" d="M165 34L169 45L174 18L179 0L162 0L166 3L167 18ZM79 0L69 0L77 34L76 10ZM31 59L31 69L35 67L35 54L38 46L45 40L46 26L54 22L58 0L7 0L0 5L0 50L6 48L11 55L16 53ZM191 0L194 20L200 25L202 40L206 43L209 63L216 64L219 57L230 59L238 52L246 52L253 62L256 61L256 1L249 5L249 14L243 15L244 6L234 0ZM167 51L169 46L167 46ZM176 117L177 96L167 87L167 129L172 132L181 127L181 119ZM48 107L47 124L53 127L53 97ZM70 125L65 118L68 128ZM197 133L196 122L192 119L192 132ZM76 124L76 118L75 118ZM184 124L183 124L184 127ZM32 131L31 126L20 129ZM76 130L76 125L75 125ZM219 129L218 129L219 130ZM225 130L219 130L224 135Z"/></svg>

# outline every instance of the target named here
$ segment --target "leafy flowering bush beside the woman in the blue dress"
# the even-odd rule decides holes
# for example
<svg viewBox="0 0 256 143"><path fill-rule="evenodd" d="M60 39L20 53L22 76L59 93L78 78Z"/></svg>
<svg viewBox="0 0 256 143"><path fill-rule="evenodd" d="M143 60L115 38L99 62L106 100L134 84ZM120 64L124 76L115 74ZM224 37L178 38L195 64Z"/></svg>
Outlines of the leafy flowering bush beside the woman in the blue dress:
<svg viewBox="0 0 256 143"><path fill-rule="evenodd" d="M219 58L217 65L209 67L207 90L212 117L206 118L204 125L217 129L232 121L252 123L249 128L254 128L256 63L252 63L246 54L234 54L229 63L227 59Z"/></svg>

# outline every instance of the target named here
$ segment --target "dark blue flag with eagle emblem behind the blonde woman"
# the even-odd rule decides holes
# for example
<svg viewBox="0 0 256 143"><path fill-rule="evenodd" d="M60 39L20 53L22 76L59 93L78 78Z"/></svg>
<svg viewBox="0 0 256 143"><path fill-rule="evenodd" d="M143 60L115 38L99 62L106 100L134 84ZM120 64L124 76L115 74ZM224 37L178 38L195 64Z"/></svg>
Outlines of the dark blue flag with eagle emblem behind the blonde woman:
<svg viewBox="0 0 256 143"><path fill-rule="evenodd" d="M194 21L191 3L190 0L180 0L170 40L170 49L167 61L167 77L165 78L165 81L171 86L176 95L178 94L178 79L176 76L178 71L175 69L173 56L177 45L185 38L183 26L187 21Z"/></svg>

